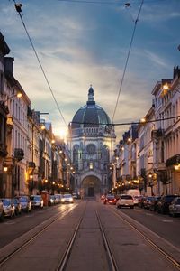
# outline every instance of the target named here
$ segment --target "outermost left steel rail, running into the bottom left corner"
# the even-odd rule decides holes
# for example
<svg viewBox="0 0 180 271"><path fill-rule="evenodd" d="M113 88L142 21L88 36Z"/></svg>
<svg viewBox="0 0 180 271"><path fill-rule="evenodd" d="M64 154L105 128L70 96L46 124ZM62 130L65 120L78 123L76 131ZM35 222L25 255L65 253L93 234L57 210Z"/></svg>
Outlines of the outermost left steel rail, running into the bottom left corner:
<svg viewBox="0 0 180 271"><path fill-rule="evenodd" d="M40 234L42 234L46 229L48 229L55 221L59 220L59 219L62 219L59 218L59 214L62 214L63 217L68 213L70 212L71 210L69 209L66 209L66 210L63 210L63 211L59 211L57 215L54 216L54 219L53 220L50 220L49 223L47 225L45 225L42 229L40 229L40 231L38 233L34 233L33 236L31 238L28 238L24 243L23 245L21 245L19 248L15 248L13 252L9 253L7 256L3 257L1 260L0 260L0 269L1 269L1 266L4 266L4 264L11 258L13 258L18 252L20 252L21 250L23 250L23 248L27 247L28 245L31 244L31 242L38 238L40 236ZM27 231L26 233L30 232L31 230ZM3 248L2 248L3 249Z"/></svg>

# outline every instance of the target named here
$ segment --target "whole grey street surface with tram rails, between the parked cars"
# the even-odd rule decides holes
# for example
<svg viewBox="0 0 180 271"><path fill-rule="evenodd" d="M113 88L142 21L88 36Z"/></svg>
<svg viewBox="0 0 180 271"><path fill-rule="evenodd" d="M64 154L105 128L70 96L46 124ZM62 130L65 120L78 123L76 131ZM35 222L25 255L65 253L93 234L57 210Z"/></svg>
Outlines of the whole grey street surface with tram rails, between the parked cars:
<svg viewBox="0 0 180 271"><path fill-rule="evenodd" d="M8 254L20 248L0 267L21 271L24 263L26 270L111 270L107 255L110 249L115 270L179 270L161 253L163 249L179 262L179 226L179 218L138 207L117 210L114 205L104 205L99 199L32 210L30 215L4 220L0 224L1 234L11 237L6 244L3 241L5 246L1 244L1 263ZM69 240L75 231L70 247ZM149 241L159 242L159 248L156 248L158 244L154 246ZM67 248L66 264L62 267Z"/></svg>

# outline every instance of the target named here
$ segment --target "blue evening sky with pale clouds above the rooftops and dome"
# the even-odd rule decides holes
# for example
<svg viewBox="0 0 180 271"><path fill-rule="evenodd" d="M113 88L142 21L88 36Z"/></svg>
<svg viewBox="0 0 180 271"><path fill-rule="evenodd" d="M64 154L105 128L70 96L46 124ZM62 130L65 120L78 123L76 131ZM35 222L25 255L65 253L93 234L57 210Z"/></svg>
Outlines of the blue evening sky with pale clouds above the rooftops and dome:
<svg viewBox="0 0 180 271"><path fill-rule="evenodd" d="M174 66L180 66L179 0L17 3L23 4L23 22L57 103L13 0L0 0L0 31L11 50L8 56L14 57L15 79L31 108L49 113L43 118L55 135L86 104L91 84L96 104L114 124L139 121L152 105L157 81L172 79ZM129 127L115 126L117 141Z"/></svg>

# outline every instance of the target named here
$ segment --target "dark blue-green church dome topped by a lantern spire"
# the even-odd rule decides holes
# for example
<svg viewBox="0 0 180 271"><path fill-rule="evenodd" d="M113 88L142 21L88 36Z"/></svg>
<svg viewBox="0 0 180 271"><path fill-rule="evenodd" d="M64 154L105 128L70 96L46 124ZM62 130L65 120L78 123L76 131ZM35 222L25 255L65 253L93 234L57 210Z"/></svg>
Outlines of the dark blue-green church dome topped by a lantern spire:
<svg viewBox="0 0 180 271"><path fill-rule="evenodd" d="M111 124L110 117L102 107L95 104L94 89L90 86L88 91L88 101L84 107L77 110L72 120L72 129L82 127L99 127Z"/></svg>

